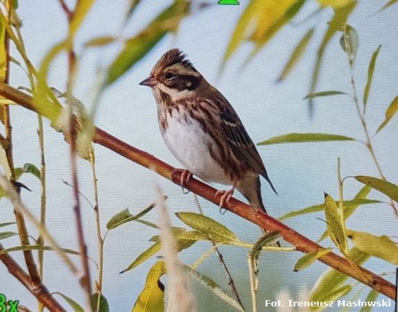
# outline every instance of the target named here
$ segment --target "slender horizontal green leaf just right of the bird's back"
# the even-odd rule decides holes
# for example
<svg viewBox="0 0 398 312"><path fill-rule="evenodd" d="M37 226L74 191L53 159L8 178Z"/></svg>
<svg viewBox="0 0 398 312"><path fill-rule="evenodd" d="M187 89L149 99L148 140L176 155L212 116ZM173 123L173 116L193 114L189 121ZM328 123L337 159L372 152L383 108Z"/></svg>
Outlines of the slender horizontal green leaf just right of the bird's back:
<svg viewBox="0 0 398 312"><path fill-rule="evenodd" d="M278 135L257 145L270 145L282 143L301 143L301 142L321 142L321 141L355 141L352 137L344 135L329 135L327 133L288 133L287 135Z"/></svg>

